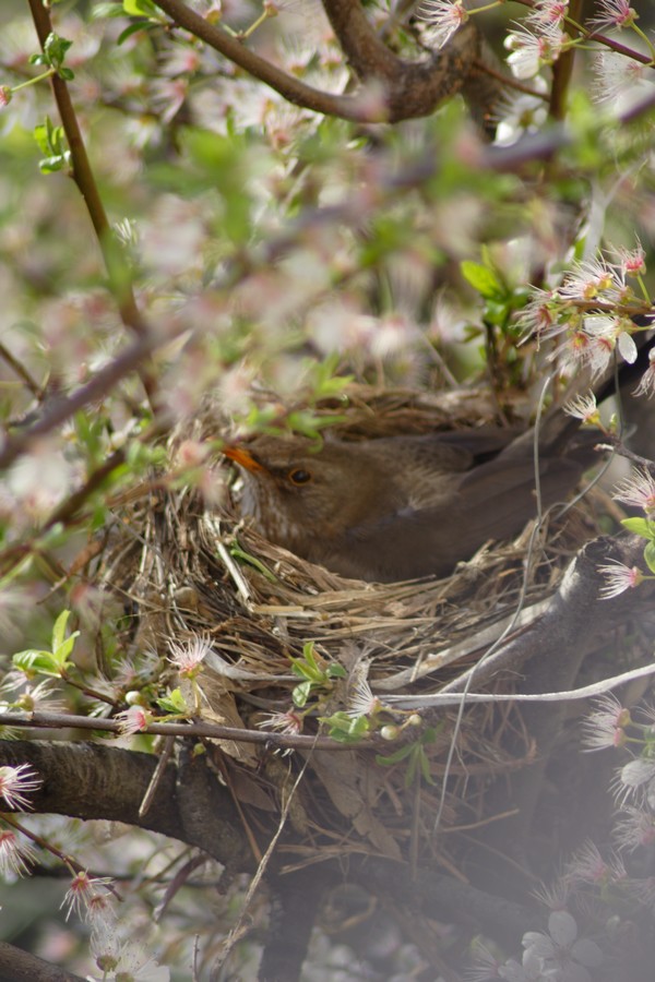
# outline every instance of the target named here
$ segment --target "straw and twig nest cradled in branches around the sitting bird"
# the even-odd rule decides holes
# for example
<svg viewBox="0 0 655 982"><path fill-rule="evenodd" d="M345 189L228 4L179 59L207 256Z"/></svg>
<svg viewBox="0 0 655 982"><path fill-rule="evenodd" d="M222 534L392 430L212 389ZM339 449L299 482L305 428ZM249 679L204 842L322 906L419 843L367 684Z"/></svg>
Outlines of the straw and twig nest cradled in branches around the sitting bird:
<svg viewBox="0 0 655 982"><path fill-rule="evenodd" d="M333 414L334 406L320 410ZM479 424L492 418L493 407L480 392L430 396L359 387L349 393L343 415L340 436L358 440ZM218 435L212 420L207 410L178 432L171 456L183 439ZM487 628L516 610L522 592L525 603L552 592L571 555L594 534L590 516L577 508L539 538L527 573L532 527L513 542L485 547L448 579L362 583L263 539L240 519L227 463L217 459L216 468L226 486L218 505L204 503L198 490L175 490L165 481L131 492L118 510L102 578L129 612L126 646L156 651L169 675L170 642L211 639L212 656L199 680L202 717L245 730L293 722L288 714L300 679L290 659L302 659L310 643L318 661L342 666L345 678L334 680L313 704L310 698L314 708L302 721L306 734L325 733L319 718L352 712L365 679L382 705L391 693L439 691L485 652ZM166 671L158 679L162 687L170 684ZM383 763L358 749L282 752L223 740L211 750L245 821L267 833L277 827L287 790L303 768L287 816L294 863L359 852L420 858L452 872L457 836L434 837L437 815L448 833L493 821L486 806L490 776L515 770L534 756L515 706L478 705L465 710L446 767L454 717L440 711L409 726L407 714L382 709L378 719L400 733ZM412 755L397 753L408 744L420 746L429 775L413 768Z"/></svg>

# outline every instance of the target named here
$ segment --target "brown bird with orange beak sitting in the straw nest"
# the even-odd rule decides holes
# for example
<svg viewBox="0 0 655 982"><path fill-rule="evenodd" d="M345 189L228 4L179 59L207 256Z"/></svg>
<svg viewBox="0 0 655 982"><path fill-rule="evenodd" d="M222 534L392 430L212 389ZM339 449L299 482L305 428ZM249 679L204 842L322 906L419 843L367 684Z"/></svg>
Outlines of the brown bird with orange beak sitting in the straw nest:
<svg viewBox="0 0 655 982"><path fill-rule="evenodd" d="M576 424L561 410L556 429L539 443L545 505L593 459L593 434L572 440ZM245 478L242 514L267 539L343 576L390 582L448 575L486 541L521 531L536 514L533 433L491 427L320 447L257 436L223 452Z"/></svg>

